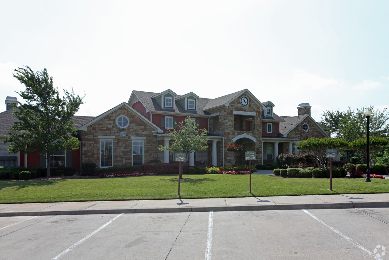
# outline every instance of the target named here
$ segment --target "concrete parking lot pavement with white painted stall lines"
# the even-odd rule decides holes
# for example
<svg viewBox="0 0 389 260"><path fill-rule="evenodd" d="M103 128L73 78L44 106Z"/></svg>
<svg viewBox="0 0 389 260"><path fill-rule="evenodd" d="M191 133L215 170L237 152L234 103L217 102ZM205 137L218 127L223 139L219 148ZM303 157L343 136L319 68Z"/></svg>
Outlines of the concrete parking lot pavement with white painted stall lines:
<svg viewBox="0 0 389 260"><path fill-rule="evenodd" d="M0 258L389 259L388 213L368 208L0 217Z"/></svg>

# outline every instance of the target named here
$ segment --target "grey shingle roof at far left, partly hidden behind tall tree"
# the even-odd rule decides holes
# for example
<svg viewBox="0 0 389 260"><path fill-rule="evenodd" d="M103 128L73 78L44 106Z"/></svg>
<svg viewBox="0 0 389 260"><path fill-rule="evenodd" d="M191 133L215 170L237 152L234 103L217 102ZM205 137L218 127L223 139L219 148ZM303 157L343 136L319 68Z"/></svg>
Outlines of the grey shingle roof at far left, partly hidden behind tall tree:
<svg viewBox="0 0 389 260"><path fill-rule="evenodd" d="M0 113L0 137L8 135L8 132L11 132L12 134L18 134L18 131L11 130L11 127L14 126L15 121L17 121L12 112L13 109L9 109ZM73 127L79 128L94 118L95 116L73 116Z"/></svg>

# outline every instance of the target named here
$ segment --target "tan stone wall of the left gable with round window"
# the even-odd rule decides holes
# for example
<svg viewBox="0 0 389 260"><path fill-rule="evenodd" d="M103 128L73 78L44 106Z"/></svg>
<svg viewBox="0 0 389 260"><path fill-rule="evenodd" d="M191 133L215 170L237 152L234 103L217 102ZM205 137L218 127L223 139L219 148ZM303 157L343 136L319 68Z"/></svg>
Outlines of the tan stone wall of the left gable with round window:
<svg viewBox="0 0 389 260"><path fill-rule="evenodd" d="M116 119L127 116L130 123L126 128L116 125ZM157 139L152 135L155 129L147 125L136 114L121 107L108 114L104 118L88 126L87 131L81 132L82 138L82 162L94 162L100 168L100 139L99 135L115 136L113 140L113 166L132 164L132 140L131 136L146 137L144 141L144 162L158 159ZM126 136L120 136L120 132L126 132Z"/></svg>

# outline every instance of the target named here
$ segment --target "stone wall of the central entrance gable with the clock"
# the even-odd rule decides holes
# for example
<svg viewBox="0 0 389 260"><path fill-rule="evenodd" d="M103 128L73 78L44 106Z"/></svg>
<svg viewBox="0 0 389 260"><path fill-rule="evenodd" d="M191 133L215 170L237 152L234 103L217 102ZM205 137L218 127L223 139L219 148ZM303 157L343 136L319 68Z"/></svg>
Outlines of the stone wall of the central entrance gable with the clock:
<svg viewBox="0 0 389 260"><path fill-rule="evenodd" d="M259 162L262 162L262 153L259 148L262 144L262 107L257 105L252 98L249 98L249 105L247 107L244 107L242 104L240 104L240 98L244 96L245 94L237 97L235 100L233 100L230 103L229 107L221 107L218 109L212 109L208 112L210 114L214 114L219 112L219 128L213 129L211 126L213 124L210 123L210 133L212 134L223 134L224 135L224 146L227 146L228 144L233 144L232 139L236 137L237 135L241 134L248 134L254 137L257 141L255 144L252 145L253 151L257 153L257 160L252 161L251 163L253 165L258 164ZM245 95L247 96L247 95ZM256 115L252 117L252 128L253 131L246 132L246 131L235 131L234 130L234 114L233 111L247 111L247 112L256 112ZM217 118L217 117L216 117ZM211 118L212 119L212 118ZM213 119L212 119L213 120ZM247 139L248 140L248 139ZM247 141L245 140L245 141ZM223 164L223 142L219 141L219 164ZM211 151L210 151L211 153ZM243 153L243 152L242 152ZM241 155L242 156L242 155ZM244 156L244 154L243 154ZM224 150L224 165L232 165L233 163L233 153L227 152Z"/></svg>

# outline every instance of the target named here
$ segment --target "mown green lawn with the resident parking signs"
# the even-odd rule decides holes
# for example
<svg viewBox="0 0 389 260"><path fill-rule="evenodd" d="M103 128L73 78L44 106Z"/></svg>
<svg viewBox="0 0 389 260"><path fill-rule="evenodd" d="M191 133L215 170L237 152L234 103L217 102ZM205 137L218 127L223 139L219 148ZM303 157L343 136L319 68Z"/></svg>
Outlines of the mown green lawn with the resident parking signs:
<svg viewBox="0 0 389 260"><path fill-rule="evenodd" d="M389 193L389 179L289 179L252 175L184 175L181 199ZM177 175L0 181L0 203L178 199Z"/></svg>

